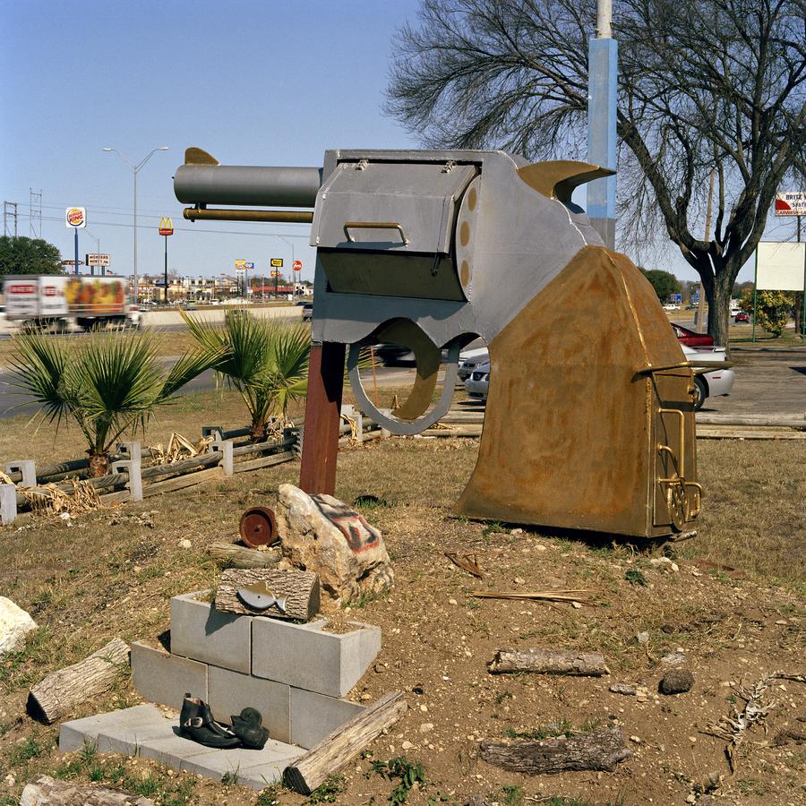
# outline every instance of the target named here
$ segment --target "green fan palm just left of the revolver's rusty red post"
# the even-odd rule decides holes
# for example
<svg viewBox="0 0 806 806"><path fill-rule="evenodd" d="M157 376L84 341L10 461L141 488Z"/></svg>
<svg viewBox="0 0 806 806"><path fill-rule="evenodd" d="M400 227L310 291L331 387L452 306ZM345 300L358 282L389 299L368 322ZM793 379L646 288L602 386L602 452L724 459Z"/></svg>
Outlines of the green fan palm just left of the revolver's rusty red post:
<svg viewBox="0 0 806 806"><path fill-rule="evenodd" d="M227 311L222 325L181 313L199 355L213 361L227 385L244 399L252 420L251 439L265 439L274 420L286 422L289 403L307 394L310 327L256 319L241 309Z"/></svg>

